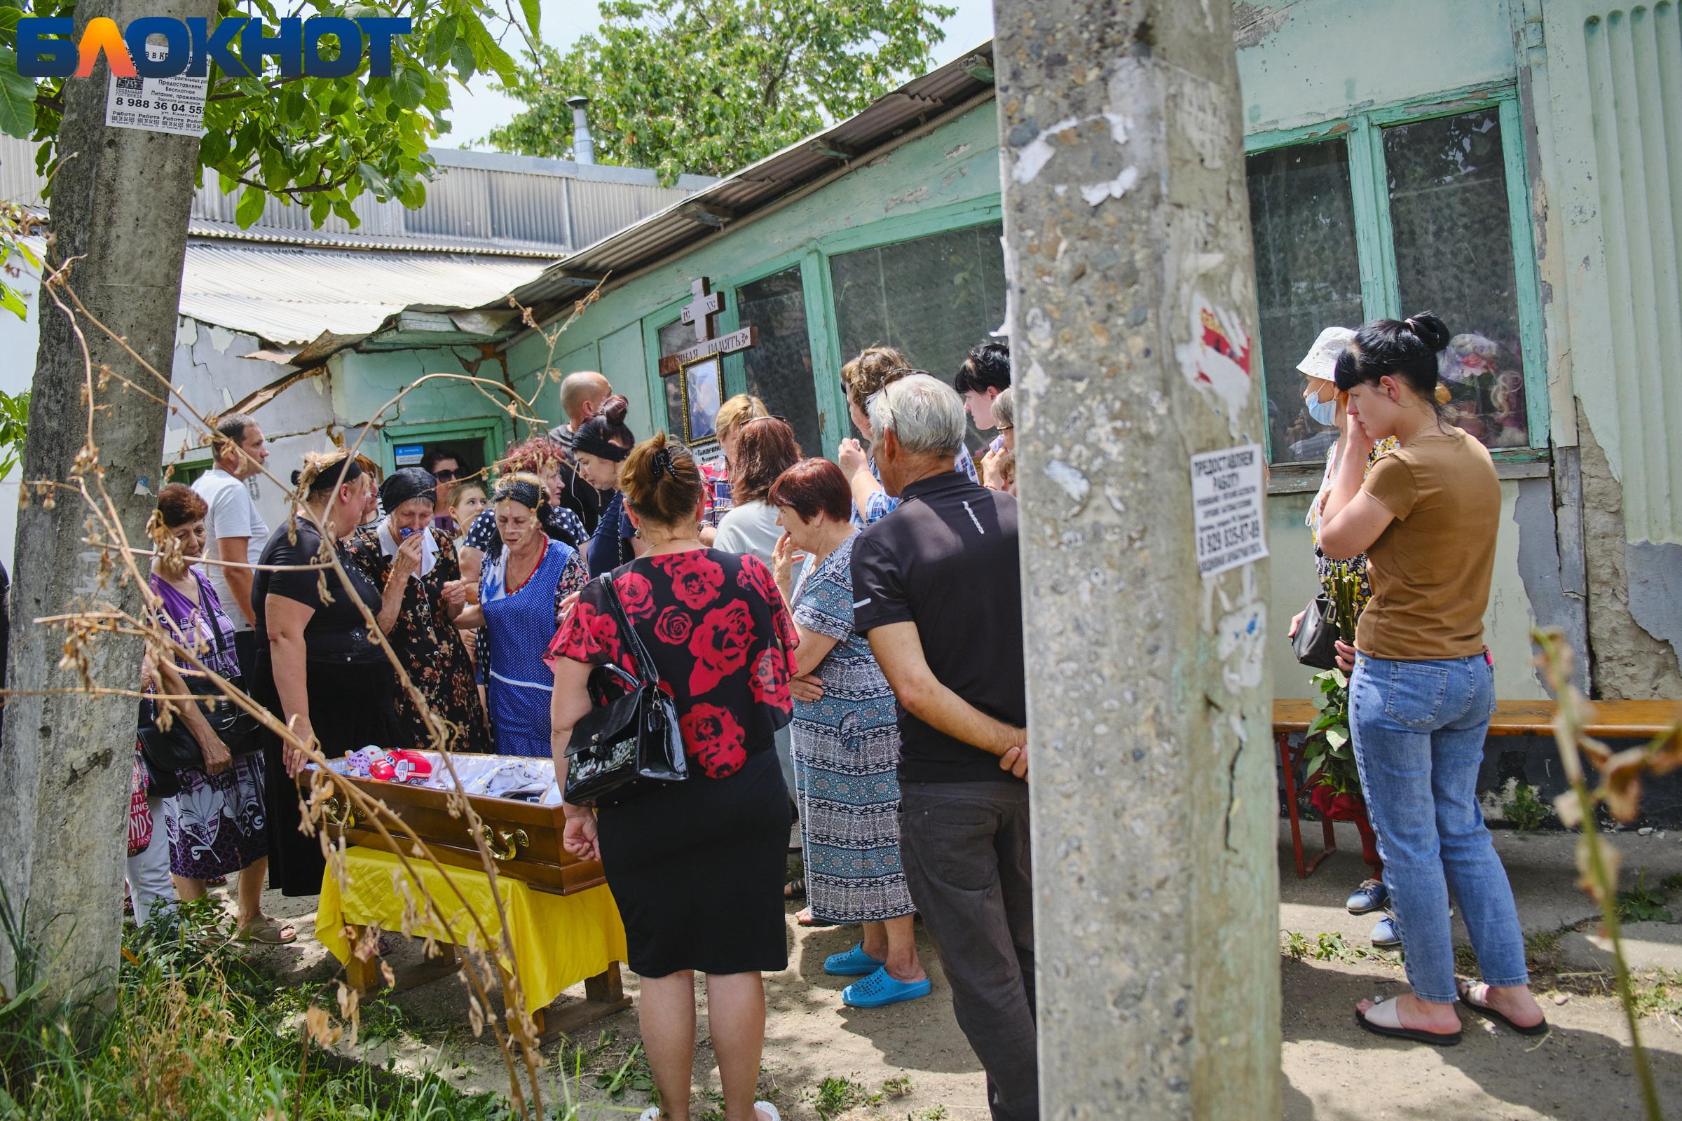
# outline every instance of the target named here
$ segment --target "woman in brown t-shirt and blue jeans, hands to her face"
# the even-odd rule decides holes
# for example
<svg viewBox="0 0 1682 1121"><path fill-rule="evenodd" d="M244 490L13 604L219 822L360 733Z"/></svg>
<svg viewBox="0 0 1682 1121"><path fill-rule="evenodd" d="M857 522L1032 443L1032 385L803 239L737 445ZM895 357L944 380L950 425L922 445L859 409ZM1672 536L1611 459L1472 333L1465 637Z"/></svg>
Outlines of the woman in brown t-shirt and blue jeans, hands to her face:
<svg viewBox="0 0 1682 1121"><path fill-rule="evenodd" d="M1411 993L1362 1000L1371 1032L1458 1044L1458 998L1526 1035L1547 1030L1529 990L1507 872L1477 800L1495 711L1484 608L1495 566L1500 482L1482 444L1443 420L1436 355L1448 328L1425 313L1376 319L1337 358L1351 447L1325 499L1320 550L1367 555L1373 600L1339 647L1361 793L1378 834ZM1367 450L1396 437L1362 479ZM1482 983L1455 980L1448 892Z"/></svg>

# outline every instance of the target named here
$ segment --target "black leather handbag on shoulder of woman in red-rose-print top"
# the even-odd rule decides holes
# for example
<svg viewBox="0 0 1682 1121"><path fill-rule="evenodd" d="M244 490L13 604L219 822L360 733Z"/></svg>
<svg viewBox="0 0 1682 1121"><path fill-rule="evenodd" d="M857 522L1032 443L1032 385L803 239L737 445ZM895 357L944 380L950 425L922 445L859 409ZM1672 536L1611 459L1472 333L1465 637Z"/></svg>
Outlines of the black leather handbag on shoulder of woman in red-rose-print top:
<svg viewBox="0 0 1682 1121"><path fill-rule="evenodd" d="M600 580L641 677L632 677L617 666L597 666L592 671L590 694L609 699L572 728L565 793L570 805L616 805L658 783L690 776L678 706L659 687L654 659L626 617L614 578L606 575ZM622 694L612 697L621 689Z"/></svg>

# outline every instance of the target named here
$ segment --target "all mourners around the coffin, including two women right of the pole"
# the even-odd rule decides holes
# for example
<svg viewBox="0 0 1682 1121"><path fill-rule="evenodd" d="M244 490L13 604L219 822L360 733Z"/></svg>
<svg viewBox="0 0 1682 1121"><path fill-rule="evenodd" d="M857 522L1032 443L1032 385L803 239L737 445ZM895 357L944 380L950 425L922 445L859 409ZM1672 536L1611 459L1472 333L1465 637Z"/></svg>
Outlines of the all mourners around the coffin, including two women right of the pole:
<svg viewBox="0 0 1682 1121"><path fill-rule="evenodd" d="M1371 595L1339 659L1383 871L1351 908L1388 906L1413 985L1357 1018L1425 1042L1458 1039L1457 1000L1546 1027L1473 790L1500 496L1489 452L1438 412L1447 338L1431 314L1383 319L1329 331L1302 366L1310 415L1339 432L1310 513L1322 576L1356 566ZM442 738L558 773L600 701L597 667L646 671L673 697L690 778L565 805L563 845L602 862L641 975L663 1103L644 1118L690 1116L696 971L728 1121L775 1118L754 1101L762 975L787 968L791 899L804 924L860 926L824 963L856 978L843 1000L860 1008L930 993L920 918L992 1116L1038 1118L1009 350L974 348L947 382L871 346L841 376L860 439L836 462L748 395L722 405L715 462L664 432L639 442L607 380L575 373L567 422L508 449L489 479L439 452L383 479L343 449L311 454L293 472L296 514L271 528L246 486L262 430L229 415L215 467L158 496L158 620L200 654L148 659L156 692L202 692L209 669L328 758ZM971 422L994 434L979 462ZM143 704L143 746L173 738L198 758L170 770L146 766L161 750L136 755L136 807L161 827L131 840L131 901L168 906L237 874L241 936L291 941L261 891L264 876L320 891L320 845L298 829L306 760L232 724ZM792 822L804 877L789 882ZM1485 983L1455 982L1450 892Z"/></svg>

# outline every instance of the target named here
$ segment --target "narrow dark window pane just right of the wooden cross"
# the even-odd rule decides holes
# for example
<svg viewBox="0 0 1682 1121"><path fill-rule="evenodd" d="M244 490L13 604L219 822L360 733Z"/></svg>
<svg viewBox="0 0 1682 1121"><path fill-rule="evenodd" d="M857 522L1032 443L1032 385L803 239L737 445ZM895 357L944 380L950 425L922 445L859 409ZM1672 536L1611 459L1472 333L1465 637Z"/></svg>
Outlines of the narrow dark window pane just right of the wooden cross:
<svg viewBox="0 0 1682 1121"><path fill-rule="evenodd" d="M759 345L742 351L747 392L765 402L774 417L789 422L802 454L822 455L801 266L738 287L737 313L742 326L759 328Z"/></svg>

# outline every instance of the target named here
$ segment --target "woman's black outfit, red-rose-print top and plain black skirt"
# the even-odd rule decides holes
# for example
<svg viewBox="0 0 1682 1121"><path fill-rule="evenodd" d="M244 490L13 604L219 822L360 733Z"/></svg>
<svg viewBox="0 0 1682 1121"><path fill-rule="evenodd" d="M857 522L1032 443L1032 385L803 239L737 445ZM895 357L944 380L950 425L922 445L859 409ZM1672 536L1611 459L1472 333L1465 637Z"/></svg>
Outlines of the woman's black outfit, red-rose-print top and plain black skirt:
<svg viewBox="0 0 1682 1121"><path fill-rule="evenodd" d="M643 976L789 966L782 881L789 792L772 736L794 711L794 622L754 556L639 558L614 587L676 697L690 780L597 812L602 869ZM550 654L632 669L600 582Z"/></svg>

